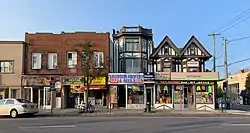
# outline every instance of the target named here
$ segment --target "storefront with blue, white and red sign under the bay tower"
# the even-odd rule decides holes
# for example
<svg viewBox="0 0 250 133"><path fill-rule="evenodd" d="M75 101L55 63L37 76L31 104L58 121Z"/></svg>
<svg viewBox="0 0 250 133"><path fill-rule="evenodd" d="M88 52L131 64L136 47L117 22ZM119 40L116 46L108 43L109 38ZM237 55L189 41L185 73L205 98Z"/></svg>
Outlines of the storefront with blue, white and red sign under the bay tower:
<svg viewBox="0 0 250 133"><path fill-rule="evenodd" d="M119 93L117 96L125 96L125 108L126 109L143 109L146 104L146 88L144 86L144 74L143 73L109 73L108 84L112 91L114 91L118 85L125 86L125 94ZM119 91L118 89L116 89ZM111 94L115 96L115 93ZM122 96L124 95L124 96ZM111 101L115 101L116 98L112 97ZM119 101L117 101L117 104Z"/></svg>

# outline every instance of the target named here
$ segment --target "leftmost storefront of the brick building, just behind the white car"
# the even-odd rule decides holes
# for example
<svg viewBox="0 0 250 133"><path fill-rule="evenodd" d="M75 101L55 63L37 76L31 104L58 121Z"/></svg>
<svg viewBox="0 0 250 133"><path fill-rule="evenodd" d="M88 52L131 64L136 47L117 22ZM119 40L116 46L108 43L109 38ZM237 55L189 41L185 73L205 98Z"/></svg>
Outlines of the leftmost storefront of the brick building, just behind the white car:
<svg viewBox="0 0 250 133"><path fill-rule="evenodd" d="M51 93L50 82L55 83L55 91ZM59 76L23 76L21 97L37 103L41 109L60 108L58 97L61 93Z"/></svg>

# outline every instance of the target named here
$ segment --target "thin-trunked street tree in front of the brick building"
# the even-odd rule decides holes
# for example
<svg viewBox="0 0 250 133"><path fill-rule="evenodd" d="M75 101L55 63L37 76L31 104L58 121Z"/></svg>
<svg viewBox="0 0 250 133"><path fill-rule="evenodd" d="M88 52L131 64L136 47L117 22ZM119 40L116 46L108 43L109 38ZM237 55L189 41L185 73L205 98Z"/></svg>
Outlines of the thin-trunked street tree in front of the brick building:
<svg viewBox="0 0 250 133"><path fill-rule="evenodd" d="M84 87L86 88L84 93L85 112L88 112L89 88L93 79L107 76L109 72L109 60L105 58L103 51L96 51L91 41L77 43L73 49L81 59L81 75L84 76Z"/></svg>

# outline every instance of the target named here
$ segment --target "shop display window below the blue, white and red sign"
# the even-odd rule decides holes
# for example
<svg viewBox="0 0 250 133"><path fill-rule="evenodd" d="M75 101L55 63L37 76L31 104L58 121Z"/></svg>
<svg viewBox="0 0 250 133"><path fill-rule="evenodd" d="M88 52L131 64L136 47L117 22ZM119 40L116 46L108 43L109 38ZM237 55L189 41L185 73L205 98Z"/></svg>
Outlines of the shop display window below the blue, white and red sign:
<svg viewBox="0 0 250 133"><path fill-rule="evenodd" d="M144 104L144 88L139 85L128 86L128 104Z"/></svg>

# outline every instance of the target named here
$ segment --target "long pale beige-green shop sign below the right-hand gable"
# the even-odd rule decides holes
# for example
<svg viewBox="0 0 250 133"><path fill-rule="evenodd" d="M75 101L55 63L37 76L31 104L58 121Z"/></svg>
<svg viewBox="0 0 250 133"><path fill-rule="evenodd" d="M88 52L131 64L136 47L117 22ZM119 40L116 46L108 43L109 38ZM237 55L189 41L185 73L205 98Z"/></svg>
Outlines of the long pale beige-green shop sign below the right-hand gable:
<svg viewBox="0 0 250 133"><path fill-rule="evenodd" d="M217 81L218 72L171 72L171 80L182 81Z"/></svg>

